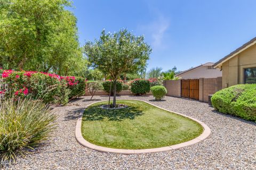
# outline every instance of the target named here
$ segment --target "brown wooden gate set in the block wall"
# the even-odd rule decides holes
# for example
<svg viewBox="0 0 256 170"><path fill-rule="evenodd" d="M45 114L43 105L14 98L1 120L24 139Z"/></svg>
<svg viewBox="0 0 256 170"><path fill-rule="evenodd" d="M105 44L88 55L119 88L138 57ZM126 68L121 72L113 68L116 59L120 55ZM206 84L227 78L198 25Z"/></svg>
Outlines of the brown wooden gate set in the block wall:
<svg viewBox="0 0 256 170"><path fill-rule="evenodd" d="M182 79L181 97L199 100L199 79Z"/></svg>

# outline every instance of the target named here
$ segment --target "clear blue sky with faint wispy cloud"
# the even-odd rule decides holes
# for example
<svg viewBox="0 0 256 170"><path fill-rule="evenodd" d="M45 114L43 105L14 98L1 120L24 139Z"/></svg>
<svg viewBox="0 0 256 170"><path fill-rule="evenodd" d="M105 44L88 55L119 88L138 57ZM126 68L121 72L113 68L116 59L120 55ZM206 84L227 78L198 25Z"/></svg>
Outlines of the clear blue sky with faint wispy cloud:
<svg viewBox="0 0 256 170"><path fill-rule="evenodd" d="M186 70L217 62L256 36L255 0L74 0L81 45L104 28L145 35L153 48L148 69Z"/></svg>

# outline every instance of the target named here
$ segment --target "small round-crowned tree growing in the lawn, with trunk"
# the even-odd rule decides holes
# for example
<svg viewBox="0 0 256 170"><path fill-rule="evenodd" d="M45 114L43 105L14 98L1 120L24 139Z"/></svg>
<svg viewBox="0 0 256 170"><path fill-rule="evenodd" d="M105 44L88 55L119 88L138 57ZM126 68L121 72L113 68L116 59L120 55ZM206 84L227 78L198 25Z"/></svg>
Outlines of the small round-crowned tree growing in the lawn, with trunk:
<svg viewBox="0 0 256 170"><path fill-rule="evenodd" d="M84 52L89 62L109 74L113 81L113 107L116 107L116 82L120 75L145 70L151 51L143 36L134 36L127 29L115 33L103 30L99 39L86 42Z"/></svg>

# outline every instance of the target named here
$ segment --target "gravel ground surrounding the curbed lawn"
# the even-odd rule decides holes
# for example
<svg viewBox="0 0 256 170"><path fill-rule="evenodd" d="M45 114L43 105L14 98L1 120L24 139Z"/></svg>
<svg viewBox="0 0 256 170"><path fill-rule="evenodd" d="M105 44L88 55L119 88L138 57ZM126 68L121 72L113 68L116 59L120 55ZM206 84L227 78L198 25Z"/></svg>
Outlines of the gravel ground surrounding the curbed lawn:
<svg viewBox="0 0 256 170"><path fill-rule="evenodd" d="M95 96L97 100L108 97ZM212 133L193 146L155 154L122 155L98 152L78 144L75 139L77 117L90 97L79 98L72 105L56 107L58 129L50 141L37 148L20 164L10 169L256 169L256 123L224 115L198 101L152 96L118 98L146 100L203 121Z"/></svg>

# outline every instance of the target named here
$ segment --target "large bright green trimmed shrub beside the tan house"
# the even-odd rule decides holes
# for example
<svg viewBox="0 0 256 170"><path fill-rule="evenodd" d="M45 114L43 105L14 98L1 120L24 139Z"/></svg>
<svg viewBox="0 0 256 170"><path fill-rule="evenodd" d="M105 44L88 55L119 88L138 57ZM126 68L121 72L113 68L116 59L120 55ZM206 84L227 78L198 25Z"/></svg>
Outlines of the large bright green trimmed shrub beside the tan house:
<svg viewBox="0 0 256 170"><path fill-rule="evenodd" d="M238 84L222 89L212 96L211 101L219 112L256 121L256 84Z"/></svg>

